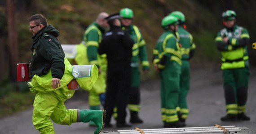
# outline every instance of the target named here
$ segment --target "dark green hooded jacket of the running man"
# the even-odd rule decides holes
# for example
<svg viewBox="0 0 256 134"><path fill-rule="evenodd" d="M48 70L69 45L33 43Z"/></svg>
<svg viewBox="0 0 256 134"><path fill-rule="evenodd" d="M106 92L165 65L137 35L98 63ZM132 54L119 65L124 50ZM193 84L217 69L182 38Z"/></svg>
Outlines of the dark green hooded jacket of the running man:
<svg viewBox="0 0 256 134"><path fill-rule="evenodd" d="M62 79L65 54L57 39L58 35L59 31L53 25L48 25L32 37L31 77L45 75L51 70L53 78Z"/></svg>

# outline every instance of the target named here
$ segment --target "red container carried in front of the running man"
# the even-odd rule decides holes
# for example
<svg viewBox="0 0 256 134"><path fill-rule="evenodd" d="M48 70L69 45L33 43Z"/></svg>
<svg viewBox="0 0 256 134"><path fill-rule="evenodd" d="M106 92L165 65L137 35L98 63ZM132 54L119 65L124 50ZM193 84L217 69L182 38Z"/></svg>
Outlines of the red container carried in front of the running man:
<svg viewBox="0 0 256 134"><path fill-rule="evenodd" d="M29 80L28 67L29 67L29 64L26 64L26 63L17 64L17 81Z"/></svg>

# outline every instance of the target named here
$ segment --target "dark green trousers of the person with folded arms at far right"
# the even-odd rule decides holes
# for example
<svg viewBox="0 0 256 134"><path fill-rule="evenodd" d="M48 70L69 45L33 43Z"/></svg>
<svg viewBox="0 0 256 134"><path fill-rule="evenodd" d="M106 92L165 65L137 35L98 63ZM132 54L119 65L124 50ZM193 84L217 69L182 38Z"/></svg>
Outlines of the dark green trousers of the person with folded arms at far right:
<svg viewBox="0 0 256 134"><path fill-rule="evenodd" d="M227 114L245 112L249 75L247 67L223 70Z"/></svg>

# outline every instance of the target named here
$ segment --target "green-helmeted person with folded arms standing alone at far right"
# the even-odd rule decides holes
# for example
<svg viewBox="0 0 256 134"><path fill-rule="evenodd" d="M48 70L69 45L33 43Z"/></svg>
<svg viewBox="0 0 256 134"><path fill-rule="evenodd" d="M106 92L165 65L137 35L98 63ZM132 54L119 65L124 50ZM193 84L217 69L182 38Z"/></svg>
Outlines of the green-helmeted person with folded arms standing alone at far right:
<svg viewBox="0 0 256 134"><path fill-rule="evenodd" d="M221 70L223 71L226 116L221 121L248 121L246 101L249 80L249 62L247 29L236 24L237 15L233 10L222 13L224 29L215 39L217 49L221 51Z"/></svg>

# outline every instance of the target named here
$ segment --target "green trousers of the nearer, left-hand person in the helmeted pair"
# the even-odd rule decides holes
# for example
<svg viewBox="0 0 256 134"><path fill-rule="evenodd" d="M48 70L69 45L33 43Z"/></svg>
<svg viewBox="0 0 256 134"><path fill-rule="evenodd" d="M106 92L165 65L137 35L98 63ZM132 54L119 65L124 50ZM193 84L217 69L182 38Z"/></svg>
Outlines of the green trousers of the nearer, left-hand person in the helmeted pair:
<svg viewBox="0 0 256 134"><path fill-rule="evenodd" d="M170 66L166 66L159 73L161 83L161 113L164 123L173 123L179 120L176 107L180 91L180 74L181 66L176 62L173 62Z"/></svg>

